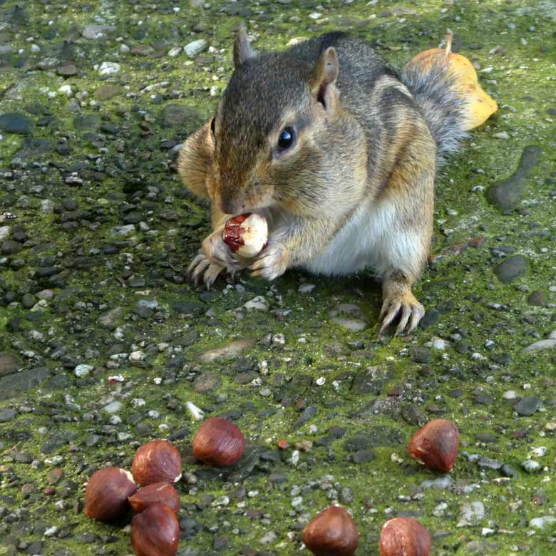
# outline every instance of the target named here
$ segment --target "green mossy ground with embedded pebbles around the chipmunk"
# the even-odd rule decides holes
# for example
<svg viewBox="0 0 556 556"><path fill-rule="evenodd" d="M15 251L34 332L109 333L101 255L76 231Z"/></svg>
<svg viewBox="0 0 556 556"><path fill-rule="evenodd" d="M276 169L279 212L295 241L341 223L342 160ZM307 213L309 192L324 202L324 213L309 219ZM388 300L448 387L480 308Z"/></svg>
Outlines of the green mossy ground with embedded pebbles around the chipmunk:
<svg viewBox="0 0 556 556"><path fill-rule="evenodd" d="M0 255L1 291L16 295L15 301L0 307L0 351L16 356L26 369L47 366L51 373L41 388L6 396L1 402L17 411L0 424L0 507L6 508L0 513L0 537L6 540L0 542L1 556L25 552L25 543L41 538L45 556L129 553L127 532L87 520L80 508L73 508L73 500L82 498L92 466L109 462L129 466L139 443L183 426L194 433L197 424L185 410L187 401L207 415L232 416L252 448L222 475L186 458L184 470L197 475L197 484L182 481L178 486L182 518L195 520L202 530L182 539L182 555L302 554L296 525L302 526L308 515L331 500L341 500L352 510L361 532L357 552L361 555L378 555L383 522L403 512L415 515L436 534L436 555L555 552L554 525L542 531L527 525L537 516L555 515L556 510L555 432L545 428L556 420L551 403L556 398L554 352L522 354L524 346L556 328L556 6L552 2L211 1L206 9L193 9L170 0L64 4L4 0L0 9L0 42L11 44L11 51L2 54L0 112L25 113L36 124L32 135L1 133L0 201L5 215L0 226L9 225L11 233L21 227L28 238L21 252ZM315 13L320 15L310 17ZM348 29L393 63L437 46L446 28L451 28L460 53L480 70L492 68L479 75L483 88L498 101L498 113L471 133L465 149L438 176L433 251L446 255L423 274L416 295L427 309L436 309L439 318L411 339L375 341L380 292L370 275L334 280L292 272L272 287L244 277L244 290L225 289L222 282L210 294L195 292L183 280L182 269L207 235L208 221L205 207L185 192L175 174L175 153L162 142L179 144L212 113L216 99L209 89L216 85L221 91L230 76L228 52L240 18L249 21L259 49L282 48L295 36ZM96 40L83 38L83 28L93 23L115 30ZM197 32L192 31L195 24ZM210 53L212 58L190 61L184 53L168 56L173 46L197 38L217 49ZM32 51L33 44L40 51ZM153 48L146 56L134 56L122 51L122 44ZM95 65L104 61L120 63L120 71L101 78ZM68 63L76 66L77 75L58 75L58 68ZM118 87L118 92L98 100L96 91L107 84ZM63 85L71 86L71 98L58 91ZM14 86L21 93L19 99ZM79 96L80 91L87 95ZM80 101L70 109L76 93ZM192 110L180 125L164 125L163 111L169 104ZM79 114L71 110L98 115L98 122L78 128L74 118ZM46 120L40 123L41 118ZM507 139L493 137L503 131ZM38 153L31 145L23 162L14 160L31 137L49 142L45 152ZM69 155L55 150L61 143L70 145ZM540 162L520 205L503 214L488 204L485 190L513 173L526 145L542 149ZM81 178L81 185L68 183L71 173ZM69 198L76 200L77 208L43 214L42 200L62 205ZM131 235L115 237L111 230L127 222L133 212L148 227L135 222ZM478 237L484 238L479 247L451 252L451 246ZM107 251L108 245L115 251ZM494 273L502 259L493 251L501 245L528 259L527 273L512 284L501 283ZM57 281L38 272L52 266ZM299 293L306 282L315 288ZM545 306L527 304L529 293L519 286L545 292ZM21 306L21 298L45 288L55 295L35 312L35 318ZM291 313L234 311L256 295L266 297L271 309ZM156 299L158 307L141 312L141 299ZM178 302L200 300L202 309L192 309L192 315L175 309ZM327 312L340 303L363 308L369 328L349 332L332 324ZM99 326L98 316L114 307L123 309L115 323L120 328ZM12 326L18 317L21 323ZM199 333L198 341L180 350L182 337L192 329ZM284 345L267 341L279 333L284 334ZM455 333L464 341L453 339ZM237 382L241 369L235 361L198 364L198 353L247 336L257 344L241 361L252 365L254 381ZM432 336L441 336L450 345L444 351L425 346L428 361L422 362L415 348ZM364 349L355 349L356 341ZM159 344L168 344L173 352ZM63 355L54 356L61 347ZM110 359L138 350L146 354L138 364ZM180 357L180 365L173 365ZM76 364L96 368L80 379L73 374ZM358 390L354 383L369 366L376 366L386 379L377 379L376 388ZM217 376L206 393L192 387L203 373ZM125 382L108 381L115 374L122 374ZM326 379L321 386L316 385L319 377ZM162 379L160 384L157 378ZM509 389L518 396L538 396L545 403L542 411L517 416L515 402L502 398ZM479 392L488 395L486 402L478 401ZM143 399L144 406L134 403L135 398ZM123 403L118 411L121 423L111 423L101 411L111 399ZM318 413L294 428L305 406L316 407ZM460 428L461 451L501 460L518 477L500 479L499 471L480 470L475 461L460 455L452 473L453 488L423 489L423 480L441 475L414 465L406 453L406 443L418 428L402 417L410 406L426 419L453 419ZM150 410L160 415L149 416ZM83 418L86 413L89 416ZM143 424L140 431L138 423ZM326 436L330 426L345 428L346 436L318 446L317 439ZM118 440L118 433L130 437ZM478 433L492 433L495 442L478 441ZM354 448L357 442L346 441L361 434L364 441L359 444L376 457L356 464L352 455L359 449ZM46 449L46 440L53 441L56 435L64 440ZM292 448L278 451L280 439ZM175 441L186 456L190 440L191 434ZM312 441L312 447L304 441ZM309 451L301 449L299 463L292 465L289 458L298 444ZM521 463L538 446L545 446L547 455L537 458L542 471L529 475ZM29 454L36 463L25 463L16 453ZM396 463L393 453L405 463ZM60 462L45 463L57 455ZM66 485L66 491L57 484L53 495L45 494L48 473L56 466L63 469L65 480L78 485L77 490ZM271 473L286 473L287 478L280 483L271 479ZM233 493L242 485L256 494L238 502ZM342 495L346 487L353 491L353 500ZM545 493L543 505L538 505L539 489ZM230 505L213 505L205 495L227 495ZM302 496L302 505L293 508L297 495ZM475 500L483 501L485 518L474 527L457 527L460 505ZM447 505L443 515L434 512L440 503ZM24 509L19 519L6 518L18 508ZM58 532L42 537L36 522L56 525ZM483 527L493 531L483 536ZM276 533L276 540L261 545L259 540L269 531ZM84 532L98 537L85 544Z"/></svg>

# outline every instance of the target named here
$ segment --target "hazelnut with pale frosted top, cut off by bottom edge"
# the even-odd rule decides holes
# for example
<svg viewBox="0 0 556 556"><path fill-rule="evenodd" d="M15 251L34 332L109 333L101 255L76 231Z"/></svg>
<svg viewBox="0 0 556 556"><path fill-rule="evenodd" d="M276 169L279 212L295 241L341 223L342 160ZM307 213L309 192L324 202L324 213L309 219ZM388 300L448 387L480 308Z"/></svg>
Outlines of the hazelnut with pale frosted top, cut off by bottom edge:
<svg viewBox="0 0 556 556"><path fill-rule="evenodd" d="M380 556L429 556L431 533L412 518L387 521L381 532Z"/></svg>

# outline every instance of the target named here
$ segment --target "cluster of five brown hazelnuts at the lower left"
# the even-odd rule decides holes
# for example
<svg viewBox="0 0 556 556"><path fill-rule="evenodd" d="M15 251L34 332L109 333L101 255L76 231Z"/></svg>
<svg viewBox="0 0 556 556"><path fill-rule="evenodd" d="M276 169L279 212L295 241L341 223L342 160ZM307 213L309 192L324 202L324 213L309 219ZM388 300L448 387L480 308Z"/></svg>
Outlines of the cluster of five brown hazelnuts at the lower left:
<svg viewBox="0 0 556 556"><path fill-rule="evenodd" d="M242 455L245 438L240 428L220 417L207 419L193 438L193 455L207 465L232 465ZM129 508L131 547L137 556L175 556L180 542L180 495L173 483L182 476L182 458L173 444L158 440L140 446L131 473L105 467L93 473L85 490L89 518L121 520ZM137 488L140 485L141 488Z"/></svg>

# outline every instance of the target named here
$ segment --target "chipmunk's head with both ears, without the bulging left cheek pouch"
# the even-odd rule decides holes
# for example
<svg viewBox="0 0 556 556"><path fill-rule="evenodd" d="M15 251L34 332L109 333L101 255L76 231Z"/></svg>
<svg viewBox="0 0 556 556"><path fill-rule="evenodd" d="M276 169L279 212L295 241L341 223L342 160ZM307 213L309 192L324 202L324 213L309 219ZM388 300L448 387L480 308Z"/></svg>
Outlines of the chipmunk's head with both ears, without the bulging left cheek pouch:
<svg viewBox="0 0 556 556"><path fill-rule="evenodd" d="M323 48L316 63L287 53L256 53L240 28L235 72L206 128L212 148L207 192L226 214L276 207L318 215L330 196L335 150L351 150L342 130L336 50Z"/></svg>

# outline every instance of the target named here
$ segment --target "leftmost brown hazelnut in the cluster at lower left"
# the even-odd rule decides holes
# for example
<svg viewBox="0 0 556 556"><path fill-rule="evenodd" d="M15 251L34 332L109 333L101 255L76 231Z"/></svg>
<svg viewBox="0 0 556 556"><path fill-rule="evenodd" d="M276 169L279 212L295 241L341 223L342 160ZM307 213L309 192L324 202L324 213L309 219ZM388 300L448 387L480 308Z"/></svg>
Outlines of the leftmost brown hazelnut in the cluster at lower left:
<svg viewBox="0 0 556 556"><path fill-rule="evenodd" d="M85 489L85 513L93 520L111 521L128 510L128 496L137 486L133 475L119 467L105 467L93 473Z"/></svg>

